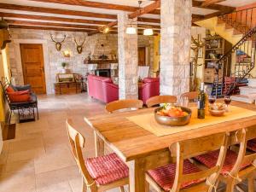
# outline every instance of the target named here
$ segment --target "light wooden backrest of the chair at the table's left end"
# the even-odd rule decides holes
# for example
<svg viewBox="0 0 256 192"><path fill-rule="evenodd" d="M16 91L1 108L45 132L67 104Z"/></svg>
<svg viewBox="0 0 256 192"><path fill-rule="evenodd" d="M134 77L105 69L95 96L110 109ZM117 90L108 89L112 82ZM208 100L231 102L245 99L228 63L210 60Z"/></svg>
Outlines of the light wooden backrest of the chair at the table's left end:
<svg viewBox="0 0 256 192"><path fill-rule="evenodd" d="M72 148L73 157L76 160L77 165L79 166L79 171L81 172L82 177L84 178L84 182L87 185L95 183L94 179L90 177L90 173L87 171L86 166L84 165L84 158L82 154L82 148L84 148L85 142L84 137L81 133L79 133L79 131L73 128L73 122L71 119L67 119L66 126L67 136Z"/></svg>

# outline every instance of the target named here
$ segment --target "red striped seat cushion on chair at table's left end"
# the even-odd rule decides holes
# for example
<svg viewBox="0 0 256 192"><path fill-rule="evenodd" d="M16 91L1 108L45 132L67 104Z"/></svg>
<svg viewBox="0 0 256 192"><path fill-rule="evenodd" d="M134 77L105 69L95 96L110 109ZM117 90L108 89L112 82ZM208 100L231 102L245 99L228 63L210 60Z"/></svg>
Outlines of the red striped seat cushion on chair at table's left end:
<svg viewBox="0 0 256 192"><path fill-rule="evenodd" d="M85 166L98 185L113 183L129 176L129 168L117 154L108 154L85 160Z"/></svg>

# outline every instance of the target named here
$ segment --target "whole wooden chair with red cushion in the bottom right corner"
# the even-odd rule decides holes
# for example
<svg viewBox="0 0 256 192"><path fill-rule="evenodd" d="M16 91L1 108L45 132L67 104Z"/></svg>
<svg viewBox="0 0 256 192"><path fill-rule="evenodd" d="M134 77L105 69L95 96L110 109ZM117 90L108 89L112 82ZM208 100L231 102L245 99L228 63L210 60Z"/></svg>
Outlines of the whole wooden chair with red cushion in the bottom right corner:
<svg viewBox="0 0 256 192"><path fill-rule="evenodd" d="M256 127L247 127L239 131L233 132L230 135L230 146L239 144L238 153L228 149L224 166L218 177L218 181L226 183L226 192L233 192L236 184L247 179L248 192L253 192L256 173L256 153L247 153L247 142L253 138L256 138ZM208 154L202 154L195 157L195 160L201 162L201 164L211 168L216 162L218 151L214 151Z"/></svg>

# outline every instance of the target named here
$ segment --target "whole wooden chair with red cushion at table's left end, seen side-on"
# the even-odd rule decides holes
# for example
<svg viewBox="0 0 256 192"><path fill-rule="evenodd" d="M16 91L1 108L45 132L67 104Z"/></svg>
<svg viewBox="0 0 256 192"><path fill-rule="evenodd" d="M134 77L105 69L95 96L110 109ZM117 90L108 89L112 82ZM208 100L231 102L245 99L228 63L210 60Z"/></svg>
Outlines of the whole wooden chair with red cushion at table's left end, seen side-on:
<svg viewBox="0 0 256 192"><path fill-rule="evenodd" d="M125 192L124 186L129 184L129 168L125 163L114 153L84 160L84 137L73 128L71 119L67 119L66 125L73 157L82 175L82 192L87 189L91 192L103 192L114 188Z"/></svg>

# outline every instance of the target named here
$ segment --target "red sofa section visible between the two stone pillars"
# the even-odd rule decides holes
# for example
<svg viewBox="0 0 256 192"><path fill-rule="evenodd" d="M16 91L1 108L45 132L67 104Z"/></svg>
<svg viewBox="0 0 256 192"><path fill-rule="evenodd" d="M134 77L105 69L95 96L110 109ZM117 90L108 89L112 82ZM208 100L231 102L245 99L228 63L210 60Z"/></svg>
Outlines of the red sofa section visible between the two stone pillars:
<svg viewBox="0 0 256 192"><path fill-rule="evenodd" d="M145 78L143 79L143 84L139 86L138 89L139 99L143 100L146 104L148 98L152 96L160 95L160 79L159 78Z"/></svg>

